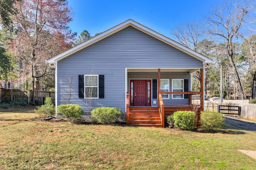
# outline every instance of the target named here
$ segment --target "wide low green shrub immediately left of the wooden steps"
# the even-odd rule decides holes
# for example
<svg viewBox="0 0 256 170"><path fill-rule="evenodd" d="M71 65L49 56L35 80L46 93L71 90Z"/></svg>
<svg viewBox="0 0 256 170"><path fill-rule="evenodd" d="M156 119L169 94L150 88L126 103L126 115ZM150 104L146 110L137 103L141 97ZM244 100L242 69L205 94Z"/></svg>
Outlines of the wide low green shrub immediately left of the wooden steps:
<svg viewBox="0 0 256 170"><path fill-rule="evenodd" d="M122 109L118 107L97 107L92 109L92 119L100 123L118 121L118 118L122 119L123 116Z"/></svg>

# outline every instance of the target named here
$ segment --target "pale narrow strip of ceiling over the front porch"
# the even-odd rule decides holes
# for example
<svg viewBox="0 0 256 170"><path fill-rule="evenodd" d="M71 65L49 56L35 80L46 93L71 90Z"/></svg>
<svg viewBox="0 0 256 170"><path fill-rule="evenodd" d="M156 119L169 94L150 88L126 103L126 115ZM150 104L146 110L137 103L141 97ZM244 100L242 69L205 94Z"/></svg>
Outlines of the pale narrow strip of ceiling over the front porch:
<svg viewBox="0 0 256 170"><path fill-rule="evenodd" d="M190 74L200 68L160 68L161 72L189 72ZM128 72L158 72L158 68L127 68Z"/></svg>

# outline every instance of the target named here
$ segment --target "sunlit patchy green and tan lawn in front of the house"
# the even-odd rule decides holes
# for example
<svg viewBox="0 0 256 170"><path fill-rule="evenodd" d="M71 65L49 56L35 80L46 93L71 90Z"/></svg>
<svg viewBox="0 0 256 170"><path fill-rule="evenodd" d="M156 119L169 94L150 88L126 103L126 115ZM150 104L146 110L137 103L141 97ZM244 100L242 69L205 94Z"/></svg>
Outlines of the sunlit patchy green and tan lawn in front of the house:
<svg viewBox="0 0 256 170"><path fill-rule="evenodd" d="M77 125L12 114L0 113L0 169L255 169L256 160L236 150L256 150L254 131Z"/></svg>

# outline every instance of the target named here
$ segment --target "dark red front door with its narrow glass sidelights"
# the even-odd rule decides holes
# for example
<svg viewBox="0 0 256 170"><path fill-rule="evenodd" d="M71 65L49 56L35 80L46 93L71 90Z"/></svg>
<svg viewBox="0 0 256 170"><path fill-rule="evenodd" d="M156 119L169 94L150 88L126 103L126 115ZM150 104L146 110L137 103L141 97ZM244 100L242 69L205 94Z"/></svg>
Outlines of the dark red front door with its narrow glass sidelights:
<svg viewBox="0 0 256 170"><path fill-rule="evenodd" d="M130 80L130 106L151 106L151 80Z"/></svg>

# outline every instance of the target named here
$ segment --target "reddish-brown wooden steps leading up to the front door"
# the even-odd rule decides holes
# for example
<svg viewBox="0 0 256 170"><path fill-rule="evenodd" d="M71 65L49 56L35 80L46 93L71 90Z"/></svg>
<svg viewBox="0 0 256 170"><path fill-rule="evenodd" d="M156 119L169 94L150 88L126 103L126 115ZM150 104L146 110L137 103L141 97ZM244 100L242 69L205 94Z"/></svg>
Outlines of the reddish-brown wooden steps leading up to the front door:
<svg viewBox="0 0 256 170"><path fill-rule="evenodd" d="M130 107L129 125L145 127L162 127L157 107Z"/></svg>

